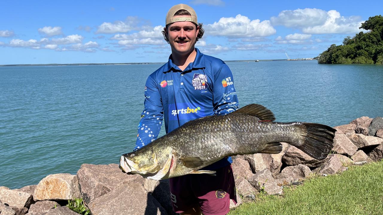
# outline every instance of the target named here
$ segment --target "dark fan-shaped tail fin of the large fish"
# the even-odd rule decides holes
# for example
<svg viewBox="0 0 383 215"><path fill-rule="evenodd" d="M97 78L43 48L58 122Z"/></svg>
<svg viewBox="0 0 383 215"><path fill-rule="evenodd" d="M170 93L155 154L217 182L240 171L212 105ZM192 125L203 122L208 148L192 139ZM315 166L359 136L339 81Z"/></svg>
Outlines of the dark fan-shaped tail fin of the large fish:
<svg viewBox="0 0 383 215"><path fill-rule="evenodd" d="M295 147L316 160L323 160L334 147L336 129L316 123L303 122L302 124L306 127L306 139L302 145Z"/></svg>

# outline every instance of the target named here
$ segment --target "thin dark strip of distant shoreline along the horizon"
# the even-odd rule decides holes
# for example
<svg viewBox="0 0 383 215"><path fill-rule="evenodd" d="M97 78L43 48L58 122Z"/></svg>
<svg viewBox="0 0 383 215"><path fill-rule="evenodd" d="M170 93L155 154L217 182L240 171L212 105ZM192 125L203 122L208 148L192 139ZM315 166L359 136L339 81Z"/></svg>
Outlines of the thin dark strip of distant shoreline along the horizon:
<svg viewBox="0 0 383 215"><path fill-rule="evenodd" d="M259 60L262 61L282 61L287 59ZM255 62L255 60L224 60L224 62ZM103 64L6 64L0 67L30 67L30 66L88 66L88 65L136 65L136 64L165 64L165 62L151 63L103 63Z"/></svg>

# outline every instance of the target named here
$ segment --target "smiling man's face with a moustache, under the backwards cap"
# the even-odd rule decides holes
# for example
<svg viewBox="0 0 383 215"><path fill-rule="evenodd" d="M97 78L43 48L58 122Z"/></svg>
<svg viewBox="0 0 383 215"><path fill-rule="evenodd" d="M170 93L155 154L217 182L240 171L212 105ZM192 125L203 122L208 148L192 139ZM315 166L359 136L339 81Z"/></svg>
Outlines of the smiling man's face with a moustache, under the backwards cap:
<svg viewBox="0 0 383 215"><path fill-rule="evenodd" d="M194 44L199 31L199 28L190 21L175 22L170 24L165 32L167 32L169 44L172 47L172 53L182 55L192 52L194 50Z"/></svg>

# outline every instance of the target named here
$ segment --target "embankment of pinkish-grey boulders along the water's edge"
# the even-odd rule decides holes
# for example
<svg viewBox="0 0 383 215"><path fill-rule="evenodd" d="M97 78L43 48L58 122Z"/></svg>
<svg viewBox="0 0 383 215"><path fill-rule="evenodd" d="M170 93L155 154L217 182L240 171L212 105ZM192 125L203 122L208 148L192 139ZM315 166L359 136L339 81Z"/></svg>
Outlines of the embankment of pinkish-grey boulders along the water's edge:
<svg viewBox="0 0 383 215"><path fill-rule="evenodd" d="M383 159L383 118L360 117L336 126L334 148L325 160L283 144L279 154L236 156L232 163L239 205L258 192L282 194L311 174L327 176ZM93 215L172 215L168 180L154 181L121 172L117 164L83 164L76 175L52 174L38 185L0 187L1 215L76 215L68 199L83 198ZM56 206L55 206L56 205ZM232 204L231 207L237 205Z"/></svg>

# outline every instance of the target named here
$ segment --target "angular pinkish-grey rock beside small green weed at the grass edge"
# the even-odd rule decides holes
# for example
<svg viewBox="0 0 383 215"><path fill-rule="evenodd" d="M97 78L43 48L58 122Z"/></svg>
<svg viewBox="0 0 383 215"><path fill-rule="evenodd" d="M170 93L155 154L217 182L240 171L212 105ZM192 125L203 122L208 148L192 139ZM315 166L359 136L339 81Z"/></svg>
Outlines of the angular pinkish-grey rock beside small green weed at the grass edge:
<svg viewBox="0 0 383 215"><path fill-rule="evenodd" d="M249 179L249 182L257 190L266 192L266 194L282 194L282 187L277 185L269 169L255 173L254 176Z"/></svg>

